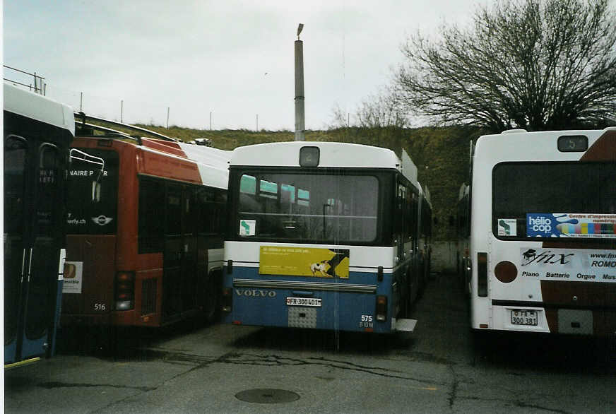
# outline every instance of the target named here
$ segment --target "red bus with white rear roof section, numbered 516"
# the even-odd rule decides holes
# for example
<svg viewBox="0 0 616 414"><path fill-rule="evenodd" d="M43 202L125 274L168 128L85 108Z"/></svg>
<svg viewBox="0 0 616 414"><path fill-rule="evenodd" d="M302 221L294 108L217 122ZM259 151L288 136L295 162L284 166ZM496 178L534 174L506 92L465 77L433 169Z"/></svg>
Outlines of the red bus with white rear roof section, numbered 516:
<svg viewBox="0 0 616 414"><path fill-rule="evenodd" d="M230 151L123 134L71 145L61 326L218 310Z"/></svg>

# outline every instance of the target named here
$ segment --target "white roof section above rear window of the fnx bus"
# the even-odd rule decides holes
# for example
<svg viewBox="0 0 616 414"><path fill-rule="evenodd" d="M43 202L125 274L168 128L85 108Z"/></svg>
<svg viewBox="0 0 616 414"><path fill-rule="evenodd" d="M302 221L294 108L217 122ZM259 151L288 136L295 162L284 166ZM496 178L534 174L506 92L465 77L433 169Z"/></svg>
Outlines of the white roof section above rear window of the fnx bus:
<svg viewBox="0 0 616 414"><path fill-rule="evenodd" d="M588 148L571 151L559 150L558 141L563 136L586 137L588 138ZM590 153L597 152L597 148L593 148L595 144L608 145L610 148L615 146L616 127L603 130L580 129L537 132L527 132L522 129L505 131L503 134L484 135L480 136L477 141L474 158L475 162L482 160L482 162L490 165L515 161L579 161L583 158L587 159Z"/></svg>

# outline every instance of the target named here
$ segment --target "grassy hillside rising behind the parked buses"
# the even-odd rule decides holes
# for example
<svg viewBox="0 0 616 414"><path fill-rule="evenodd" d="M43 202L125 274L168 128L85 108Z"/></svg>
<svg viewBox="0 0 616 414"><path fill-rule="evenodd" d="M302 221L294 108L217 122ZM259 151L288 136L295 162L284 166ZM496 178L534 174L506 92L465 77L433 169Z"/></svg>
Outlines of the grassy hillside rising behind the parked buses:
<svg viewBox="0 0 616 414"><path fill-rule="evenodd" d="M215 148L232 150L238 146L275 141L293 141L292 131L200 130L170 126L139 125L166 136L191 141L195 138L210 138ZM113 127L113 126L112 126ZM113 127L114 129L121 129ZM129 132L133 134L133 132ZM432 208L437 224L434 239L455 239L455 229L450 218L456 214L460 184L468 177L468 149L471 139L480 135L479 129L463 126L443 128L424 127L417 129L365 129L340 128L327 131L306 131L307 141L338 141L362 143L390 148L400 155L401 149L417 165L418 179L430 189Z"/></svg>

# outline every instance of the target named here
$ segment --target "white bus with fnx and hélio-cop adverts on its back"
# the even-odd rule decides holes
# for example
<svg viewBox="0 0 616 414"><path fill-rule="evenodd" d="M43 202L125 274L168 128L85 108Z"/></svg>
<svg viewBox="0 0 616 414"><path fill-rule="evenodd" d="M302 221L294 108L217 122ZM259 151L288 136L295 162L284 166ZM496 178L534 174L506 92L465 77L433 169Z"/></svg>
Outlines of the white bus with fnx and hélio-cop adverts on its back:
<svg viewBox="0 0 616 414"><path fill-rule="evenodd" d="M470 324L616 332L616 128L478 139L470 179Z"/></svg>

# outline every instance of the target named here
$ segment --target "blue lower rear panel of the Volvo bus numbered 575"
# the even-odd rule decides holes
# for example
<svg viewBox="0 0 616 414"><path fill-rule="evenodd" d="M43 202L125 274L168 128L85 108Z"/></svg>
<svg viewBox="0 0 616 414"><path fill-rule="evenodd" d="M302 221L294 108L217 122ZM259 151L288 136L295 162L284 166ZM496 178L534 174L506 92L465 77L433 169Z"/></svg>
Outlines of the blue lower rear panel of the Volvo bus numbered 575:
<svg viewBox="0 0 616 414"><path fill-rule="evenodd" d="M225 287L232 288L232 311L223 312L227 324L391 331L391 275L377 283L376 273L351 273L349 280L353 283L349 283L328 278L261 276L256 268L235 267L232 277L225 276ZM388 298L384 321L377 321L377 295Z"/></svg>

